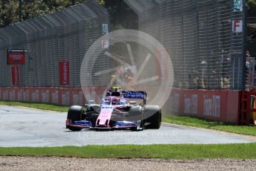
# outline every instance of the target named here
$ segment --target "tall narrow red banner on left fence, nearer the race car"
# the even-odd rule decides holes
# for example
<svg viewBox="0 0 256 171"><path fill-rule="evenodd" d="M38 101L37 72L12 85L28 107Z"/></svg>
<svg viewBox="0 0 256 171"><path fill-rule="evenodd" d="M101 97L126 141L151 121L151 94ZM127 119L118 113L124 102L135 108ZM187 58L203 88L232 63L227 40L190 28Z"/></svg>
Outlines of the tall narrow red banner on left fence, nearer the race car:
<svg viewBox="0 0 256 171"><path fill-rule="evenodd" d="M60 85L69 85L69 61L60 62Z"/></svg>

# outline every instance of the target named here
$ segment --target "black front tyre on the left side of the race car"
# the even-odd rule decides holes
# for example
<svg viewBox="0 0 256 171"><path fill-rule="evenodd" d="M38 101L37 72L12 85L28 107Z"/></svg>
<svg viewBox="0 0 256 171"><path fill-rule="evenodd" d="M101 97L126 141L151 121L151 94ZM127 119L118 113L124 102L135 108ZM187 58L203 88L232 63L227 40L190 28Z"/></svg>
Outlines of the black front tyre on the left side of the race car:
<svg viewBox="0 0 256 171"><path fill-rule="evenodd" d="M68 109L68 120L76 121L76 120L84 120L83 117L83 106L71 106ZM81 128L77 128L74 126L67 126L67 129L71 131L80 131Z"/></svg>

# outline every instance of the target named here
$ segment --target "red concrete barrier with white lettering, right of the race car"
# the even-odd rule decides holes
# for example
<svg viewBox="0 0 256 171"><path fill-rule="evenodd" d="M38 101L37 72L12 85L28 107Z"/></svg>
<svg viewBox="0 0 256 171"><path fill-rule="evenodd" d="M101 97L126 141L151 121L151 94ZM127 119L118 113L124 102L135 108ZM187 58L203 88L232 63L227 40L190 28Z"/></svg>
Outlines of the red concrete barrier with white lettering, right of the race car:
<svg viewBox="0 0 256 171"><path fill-rule="evenodd" d="M172 114L238 123L240 97L236 90L173 88L164 111Z"/></svg>

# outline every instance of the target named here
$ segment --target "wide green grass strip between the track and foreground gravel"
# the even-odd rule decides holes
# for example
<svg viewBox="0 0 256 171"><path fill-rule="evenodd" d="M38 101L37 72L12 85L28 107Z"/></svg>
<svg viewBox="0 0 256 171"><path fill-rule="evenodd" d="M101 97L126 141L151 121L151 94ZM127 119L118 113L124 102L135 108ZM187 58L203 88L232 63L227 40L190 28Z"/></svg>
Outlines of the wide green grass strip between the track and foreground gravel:
<svg viewBox="0 0 256 171"><path fill-rule="evenodd" d="M256 158L256 143L1 147L0 155L79 158Z"/></svg>

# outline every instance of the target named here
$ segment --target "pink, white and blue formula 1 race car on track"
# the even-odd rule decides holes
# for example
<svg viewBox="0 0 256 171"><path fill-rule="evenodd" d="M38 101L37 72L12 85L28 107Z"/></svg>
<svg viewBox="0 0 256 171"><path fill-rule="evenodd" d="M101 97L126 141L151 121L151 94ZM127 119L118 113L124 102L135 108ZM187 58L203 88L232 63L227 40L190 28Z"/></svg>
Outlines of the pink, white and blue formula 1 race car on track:
<svg viewBox="0 0 256 171"><path fill-rule="evenodd" d="M142 102L138 103L141 100ZM159 129L161 109L159 106L147 106L146 100L145 91L119 91L114 88L106 92L101 105L90 103L85 107L71 106L68 110L66 129Z"/></svg>

